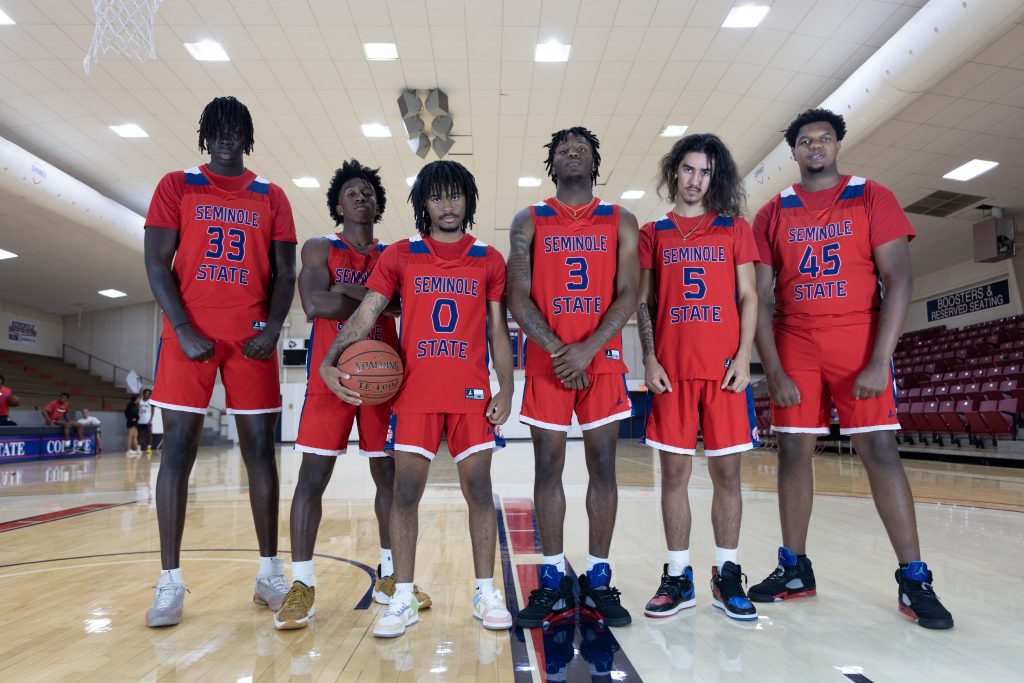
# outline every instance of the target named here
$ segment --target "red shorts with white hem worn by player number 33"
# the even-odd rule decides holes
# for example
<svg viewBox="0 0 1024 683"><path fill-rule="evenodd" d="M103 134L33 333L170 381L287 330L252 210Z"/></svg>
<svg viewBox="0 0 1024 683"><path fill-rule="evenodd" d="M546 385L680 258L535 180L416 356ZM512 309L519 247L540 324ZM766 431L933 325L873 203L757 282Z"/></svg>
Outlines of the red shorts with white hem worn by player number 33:
<svg viewBox="0 0 1024 683"><path fill-rule="evenodd" d="M242 354L245 343L214 340L213 357L196 361L181 351L177 337L163 337L157 351L157 379L151 401L172 411L206 413L219 369L228 413L281 413L278 352L254 360Z"/></svg>

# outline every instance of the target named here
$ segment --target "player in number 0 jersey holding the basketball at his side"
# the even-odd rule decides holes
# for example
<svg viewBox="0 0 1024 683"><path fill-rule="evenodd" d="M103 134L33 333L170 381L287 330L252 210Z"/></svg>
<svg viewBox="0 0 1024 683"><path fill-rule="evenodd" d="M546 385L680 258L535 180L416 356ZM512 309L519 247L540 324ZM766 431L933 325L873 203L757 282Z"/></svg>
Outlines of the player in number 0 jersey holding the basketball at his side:
<svg viewBox="0 0 1024 683"><path fill-rule="evenodd" d="M419 234L388 247L370 280L362 303L332 344L321 376L343 400L358 393L340 383L342 351L367 336L395 296L401 298L401 358L406 377L394 400L389 450L394 451L391 543L395 592L374 626L374 635L400 636L419 621L414 595L418 508L427 472L440 444L459 468L469 506L476 570L473 616L484 628L508 629L512 615L495 588L497 520L490 493L490 457L504 447L502 425L512 412L512 345L505 322L505 261L493 247L466 234L476 210L476 181L461 164L424 166L409 194ZM492 397L486 342L499 391ZM429 395L429 400L424 396Z"/></svg>

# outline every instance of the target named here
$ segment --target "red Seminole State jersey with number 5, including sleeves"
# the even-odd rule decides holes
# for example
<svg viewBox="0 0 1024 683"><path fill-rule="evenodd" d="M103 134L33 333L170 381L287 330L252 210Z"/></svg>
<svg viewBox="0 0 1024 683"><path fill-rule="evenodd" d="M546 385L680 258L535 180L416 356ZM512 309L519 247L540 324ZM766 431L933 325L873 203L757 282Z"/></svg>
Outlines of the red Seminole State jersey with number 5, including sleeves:
<svg viewBox="0 0 1024 683"><path fill-rule="evenodd" d="M739 346L736 266L758 260L751 226L666 214L640 229L639 253L654 272L654 352L669 379L721 380Z"/></svg>

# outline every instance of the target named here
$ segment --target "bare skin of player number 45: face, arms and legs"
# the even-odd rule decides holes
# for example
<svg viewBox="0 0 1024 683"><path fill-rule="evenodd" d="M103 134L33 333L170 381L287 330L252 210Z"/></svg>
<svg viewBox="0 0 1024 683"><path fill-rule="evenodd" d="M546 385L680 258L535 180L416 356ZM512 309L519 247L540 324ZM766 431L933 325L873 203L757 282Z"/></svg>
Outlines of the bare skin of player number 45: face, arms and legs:
<svg viewBox="0 0 1024 683"><path fill-rule="evenodd" d="M809 123L797 134L793 158L800 167L800 183L808 191L835 187L842 174L838 169L840 142L831 125ZM889 381L889 361L910 304L913 275L910 270L910 249L906 238L876 247L871 252L885 291L879 314L871 357L857 375L853 395L857 399L872 398L885 391ZM798 405L800 390L785 374L778 357L772 333L772 306L775 273L771 266L757 266L759 311L757 344L761 362L768 379L772 401L780 407ZM921 559L918 524L913 510L913 495L899 459L896 438L891 431L852 434L857 454L867 472L874 507L886 527L889 541L899 562ZM811 458L816 437L813 434L778 434L778 505L782 524L782 543L798 555L806 552L814 499L814 473Z"/></svg>

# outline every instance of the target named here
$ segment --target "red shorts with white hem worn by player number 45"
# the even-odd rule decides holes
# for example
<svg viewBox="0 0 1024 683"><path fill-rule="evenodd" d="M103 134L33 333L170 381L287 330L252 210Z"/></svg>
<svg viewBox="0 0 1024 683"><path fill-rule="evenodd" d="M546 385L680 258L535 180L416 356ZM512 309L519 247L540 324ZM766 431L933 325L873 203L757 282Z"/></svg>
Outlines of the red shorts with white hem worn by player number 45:
<svg viewBox="0 0 1024 683"><path fill-rule="evenodd" d="M771 428L777 432L827 434L831 403L839 413L840 433L899 429L892 368L889 385L874 398L854 398L857 375L874 348L874 325L803 330L775 329L782 370L800 389L800 403L772 403Z"/></svg>

